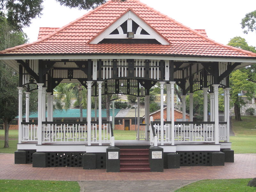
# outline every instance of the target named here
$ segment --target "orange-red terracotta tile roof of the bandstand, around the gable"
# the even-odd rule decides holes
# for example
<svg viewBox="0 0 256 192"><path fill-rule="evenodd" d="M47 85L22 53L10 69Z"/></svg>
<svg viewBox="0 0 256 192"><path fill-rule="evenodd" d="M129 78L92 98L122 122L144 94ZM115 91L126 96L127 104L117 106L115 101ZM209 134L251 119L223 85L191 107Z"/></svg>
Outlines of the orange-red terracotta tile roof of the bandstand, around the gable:
<svg viewBox="0 0 256 192"><path fill-rule="evenodd" d="M170 45L88 43L127 9L132 9L142 20L164 36ZM43 29L45 32L41 32L41 39L38 41L0 53L139 53L256 57L256 53L217 43L206 37L204 31L188 28L138 0L127 0L122 3L108 1L49 35L47 32L53 28Z"/></svg>

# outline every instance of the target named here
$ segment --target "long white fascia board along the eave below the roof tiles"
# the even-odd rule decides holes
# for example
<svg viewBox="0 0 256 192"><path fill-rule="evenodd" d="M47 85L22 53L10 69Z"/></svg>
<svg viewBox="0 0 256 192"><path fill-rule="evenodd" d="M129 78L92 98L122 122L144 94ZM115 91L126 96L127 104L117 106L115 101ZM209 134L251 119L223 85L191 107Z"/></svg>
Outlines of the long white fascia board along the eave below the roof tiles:
<svg viewBox="0 0 256 192"><path fill-rule="evenodd" d="M61 60L61 59L149 59L149 60L177 60L177 61L205 61L205 62L240 62L240 63L250 63L249 65L256 64L256 57L253 58L228 58L228 57L195 57L195 56L158 56L158 55L10 55L10 56L0 56L0 60L48 60L48 59L55 59L55 60ZM6 61L4 61L6 62Z"/></svg>

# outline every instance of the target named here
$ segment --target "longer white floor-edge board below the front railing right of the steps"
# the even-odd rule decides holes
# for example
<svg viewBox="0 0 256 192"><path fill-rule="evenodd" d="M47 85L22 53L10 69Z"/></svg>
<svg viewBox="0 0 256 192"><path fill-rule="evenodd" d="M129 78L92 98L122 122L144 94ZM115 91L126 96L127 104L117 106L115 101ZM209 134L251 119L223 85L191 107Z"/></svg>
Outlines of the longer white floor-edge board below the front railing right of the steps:
<svg viewBox="0 0 256 192"><path fill-rule="evenodd" d="M220 145L182 145L176 146L176 151L220 151Z"/></svg>

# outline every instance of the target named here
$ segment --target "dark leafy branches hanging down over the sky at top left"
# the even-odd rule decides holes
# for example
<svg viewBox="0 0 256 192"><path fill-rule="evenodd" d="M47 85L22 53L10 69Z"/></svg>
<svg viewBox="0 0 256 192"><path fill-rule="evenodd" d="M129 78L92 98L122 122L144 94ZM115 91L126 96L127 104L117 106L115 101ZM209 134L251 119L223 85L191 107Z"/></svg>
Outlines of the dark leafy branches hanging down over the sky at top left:
<svg viewBox="0 0 256 192"><path fill-rule="evenodd" d="M61 5L69 8L94 9L107 0L56 0ZM125 1L125 0L112 0ZM8 23L16 29L28 27L31 19L40 17L44 0L0 0L0 21L3 20L6 12ZM2 18L2 19L1 19Z"/></svg>

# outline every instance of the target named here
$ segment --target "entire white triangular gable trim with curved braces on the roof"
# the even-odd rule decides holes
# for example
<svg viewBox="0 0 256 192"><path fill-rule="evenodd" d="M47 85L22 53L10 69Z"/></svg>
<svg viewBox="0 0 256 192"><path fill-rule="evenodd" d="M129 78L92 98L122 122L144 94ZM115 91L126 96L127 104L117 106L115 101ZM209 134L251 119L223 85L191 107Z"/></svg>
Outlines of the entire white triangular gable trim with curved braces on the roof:
<svg viewBox="0 0 256 192"><path fill-rule="evenodd" d="M119 18L117 18L112 24L105 28L97 36L93 37L88 43L98 44L103 39L128 39L127 34L124 33L121 25L127 21L127 32L132 32L132 21L138 24L138 28L134 32L133 39L156 39L160 44L169 45L170 42L152 28L145 20L141 19L132 9L128 9ZM118 34L111 34L114 30L118 31ZM142 30L145 30L148 35L140 34Z"/></svg>

